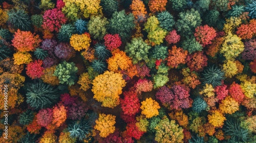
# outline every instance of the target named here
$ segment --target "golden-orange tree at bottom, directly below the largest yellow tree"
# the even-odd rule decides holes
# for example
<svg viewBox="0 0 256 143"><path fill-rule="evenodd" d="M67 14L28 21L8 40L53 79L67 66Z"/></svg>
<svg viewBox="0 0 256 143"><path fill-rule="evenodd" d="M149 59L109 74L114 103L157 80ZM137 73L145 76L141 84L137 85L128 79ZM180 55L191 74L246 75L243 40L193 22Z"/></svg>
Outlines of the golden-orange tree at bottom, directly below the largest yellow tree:
<svg viewBox="0 0 256 143"><path fill-rule="evenodd" d="M111 133L115 132L115 121L116 116L111 114L99 114L99 118L95 121L96 125L94 126L94 129L99 130L99 135L101 137L107 137Z"/></svg>

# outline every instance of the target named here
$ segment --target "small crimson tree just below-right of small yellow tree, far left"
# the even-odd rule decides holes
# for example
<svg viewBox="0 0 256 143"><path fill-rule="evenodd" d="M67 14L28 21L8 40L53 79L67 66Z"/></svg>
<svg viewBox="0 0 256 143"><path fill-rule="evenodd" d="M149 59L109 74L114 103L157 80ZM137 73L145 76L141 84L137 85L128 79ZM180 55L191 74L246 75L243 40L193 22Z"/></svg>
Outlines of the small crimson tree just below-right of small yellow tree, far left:
<svg viewBox="0 0 256 143"><path fill-rule="evenodd" d="M35 60L34 62L30 62L29 64L27 64L26 70L26 74L31 79L40 78L44 74L44 72L42 72L44 68L42 67L41 60Z"/></svg>

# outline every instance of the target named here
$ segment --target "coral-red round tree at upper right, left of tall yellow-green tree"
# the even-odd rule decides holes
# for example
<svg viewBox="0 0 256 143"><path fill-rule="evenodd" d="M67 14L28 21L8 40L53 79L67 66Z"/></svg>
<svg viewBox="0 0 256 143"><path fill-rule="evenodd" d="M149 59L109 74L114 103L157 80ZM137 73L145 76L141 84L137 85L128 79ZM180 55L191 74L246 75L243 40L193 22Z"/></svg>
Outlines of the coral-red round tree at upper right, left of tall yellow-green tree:
<svg viewBox="0 0 256 143"><path fill-rule="evenodd" d="M196 40L203 47L205 47L207 44L211 44L211 40L213 40L217 36L216 30L207 25L197 27L194 35L196 37Z"/></svg>

